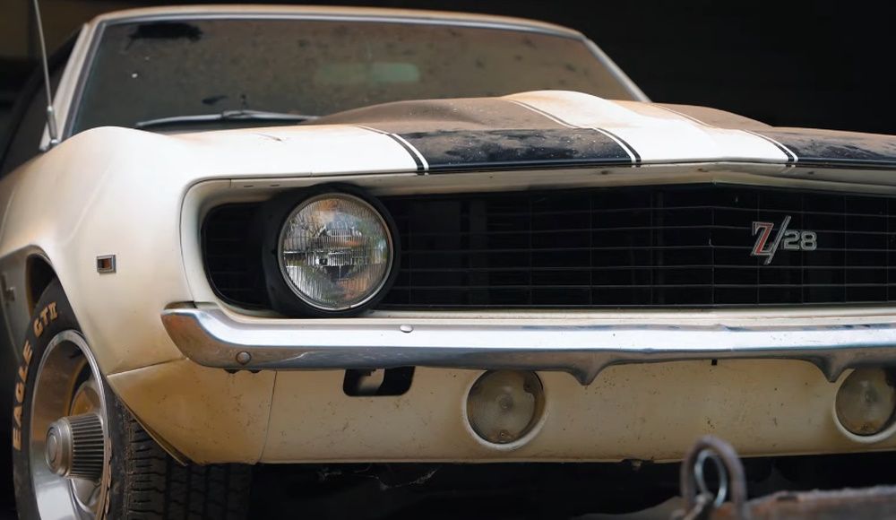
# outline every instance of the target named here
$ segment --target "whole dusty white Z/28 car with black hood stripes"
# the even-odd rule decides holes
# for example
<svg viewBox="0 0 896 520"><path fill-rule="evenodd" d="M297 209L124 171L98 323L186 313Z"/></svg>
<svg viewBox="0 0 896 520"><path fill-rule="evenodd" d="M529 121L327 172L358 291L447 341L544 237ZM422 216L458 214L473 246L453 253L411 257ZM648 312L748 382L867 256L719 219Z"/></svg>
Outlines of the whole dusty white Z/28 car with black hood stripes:
<svg viewBox="0 0 896 520"><path fill-rule="evenodd" d="M50 65L59 139L38 84L0 180L23 517L237 517L257 463L896 447L896 138L456 13L126 11Z"/></svg>

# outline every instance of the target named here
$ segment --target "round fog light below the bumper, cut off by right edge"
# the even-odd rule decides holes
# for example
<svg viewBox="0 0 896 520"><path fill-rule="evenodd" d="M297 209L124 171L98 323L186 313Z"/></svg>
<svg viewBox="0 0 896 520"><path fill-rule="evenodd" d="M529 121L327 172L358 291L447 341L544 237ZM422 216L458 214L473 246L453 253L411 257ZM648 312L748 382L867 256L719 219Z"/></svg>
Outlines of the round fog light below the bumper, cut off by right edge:
<svg viewBox="0 0 896 520"><path fill-rule="evenodd" d="M837 391L837 420L850 433L869 436L892 424L896 388L882 368L857 368Z"/></svg>

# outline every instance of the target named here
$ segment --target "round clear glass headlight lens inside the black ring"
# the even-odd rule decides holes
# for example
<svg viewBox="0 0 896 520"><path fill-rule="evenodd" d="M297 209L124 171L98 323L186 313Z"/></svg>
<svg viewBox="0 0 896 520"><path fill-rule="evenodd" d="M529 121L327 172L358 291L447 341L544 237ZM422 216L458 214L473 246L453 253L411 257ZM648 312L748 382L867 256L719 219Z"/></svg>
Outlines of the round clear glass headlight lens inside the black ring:
<svg viewBox="0 0 896 520"><path fill-rule="evenodd" d="M354 195L317 195L289 213L280 231L280 269L306 304L356 308L383 288L392 235L383 215Z"/></svg>

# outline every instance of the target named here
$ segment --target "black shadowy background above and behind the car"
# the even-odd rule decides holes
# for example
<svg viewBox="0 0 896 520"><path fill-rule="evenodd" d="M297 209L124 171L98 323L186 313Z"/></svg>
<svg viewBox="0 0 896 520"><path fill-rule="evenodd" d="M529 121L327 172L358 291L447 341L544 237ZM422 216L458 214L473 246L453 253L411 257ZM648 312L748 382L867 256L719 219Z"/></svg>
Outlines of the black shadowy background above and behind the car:
<svg viewBox="0 0 896 520"><path fill-rule="evenodd" d="M59 45L95 13L151 0L41 0ZM195 3L195 2L194 2ZM199 2L201 3L201 2ZM276 2L268 2L276 3ZM322 2L496 13L582 30L652 100L706 105L775 126L896 134L893 18L856 2L366 0ZM36 65L30 0L0 0L0 128ZM18 34L7 43L4 32ZM16 49L10 47L16 46Z"/></svg>

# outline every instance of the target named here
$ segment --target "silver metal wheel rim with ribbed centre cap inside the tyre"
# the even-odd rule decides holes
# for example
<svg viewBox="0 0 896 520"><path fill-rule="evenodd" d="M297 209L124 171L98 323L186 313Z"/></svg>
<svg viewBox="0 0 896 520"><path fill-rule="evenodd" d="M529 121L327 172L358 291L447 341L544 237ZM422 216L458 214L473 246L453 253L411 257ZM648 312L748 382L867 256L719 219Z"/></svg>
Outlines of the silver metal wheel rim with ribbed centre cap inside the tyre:
<svg viewBox="0 0 896 520"><path fill-rule="evenodd" d="M94 519L105 500L106 395L87 342L57 334L38 366L31 402L30 468L41 518Z"/></svg>

